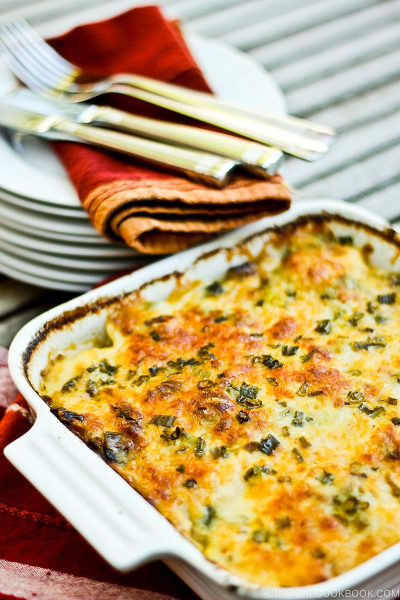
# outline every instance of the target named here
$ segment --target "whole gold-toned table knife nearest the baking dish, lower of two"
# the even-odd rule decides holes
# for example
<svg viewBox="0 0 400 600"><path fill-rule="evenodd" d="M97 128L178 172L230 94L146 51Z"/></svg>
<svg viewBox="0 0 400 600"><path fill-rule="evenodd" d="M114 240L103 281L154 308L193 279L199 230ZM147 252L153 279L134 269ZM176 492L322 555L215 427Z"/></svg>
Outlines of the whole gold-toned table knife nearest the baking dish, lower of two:
<svg viewBox="0 0 400 600"><path fill-rule="evenodd" d="M216 154L198 152L179 146L131 136L90 125L53 113L41 113L0 103L0 126L46 139L73 140L123 152L151 163L178 170L191 179L214 187L223 187L230 179L237 161Z"/></svg>

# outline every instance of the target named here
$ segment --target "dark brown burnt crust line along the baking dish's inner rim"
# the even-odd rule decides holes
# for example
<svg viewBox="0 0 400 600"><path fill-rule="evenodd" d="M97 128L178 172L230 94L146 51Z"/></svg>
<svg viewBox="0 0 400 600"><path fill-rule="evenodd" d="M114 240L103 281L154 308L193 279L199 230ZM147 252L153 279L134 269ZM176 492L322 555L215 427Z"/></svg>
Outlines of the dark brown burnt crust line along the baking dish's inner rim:
<svg viewBox="0 0 400 600"><path fill-rule="evenodd" d="M201 260L209 259L210 257L220 253L221 251L230 253L234 250L237 250L237 248L239 248L240 246L248 244L248 242L251 242L252 239L258 238L262 235L266 235L266 233L273 232L290 234L297 227L306 225L310 221L312 223L321 225L326 223L332 223L333 221L345 223L347 225L356 227L357 229L366 230L374 236L377 236L378 238L381 238L386 242L390 242L391 244L395 245L400 251L400 236L394 229L392 229L392 227L377 229L366 223L362 223L354 219L349 219L339 214L333 214L330 212L322 211L317 214L302 215L300 217L295 218L293 221L288 221L288 223L267 227L266 229L263 229L260 232L252 233L252 235L243 238L239 242L236 242L236 244L234 244L230 248L215 248L214 250L205 252L198 256L196 260L194 260L193 265L196 265ZM67 310L59 316L55 317L54 319L51 319L50 321L44 323L44 325L35 334L34 338L32 338L32 340L29 342L28 346L22 354L23 372L31 388L35 389L29 377L29 362L31 361L32 356L34 355L35 350L37 350L37 348L44 342L44 340L46 340L47 335L49 335L50 332L63 329L70 323L74 323L79 319L83 319L84 317L88 316L88 314L99 313L104 308L114 304L115 302L121 301L122 299L129 296L131 293L140 292L140 290L143 290L146 287L151 286L152 284L157 283L159 281L168 281L171 277L175 277L178 280L180 277L182 277L182 273L179 271L173 271L172 273L168 273L166 275L163 275L162 277L157 277L151 281L146 281L146 283L143 283L142 286L138 287L137 289L131 290L130 292L125 292L116 296L98 298L95 302L90 302L88 304L83 304L82 306L73 308L72 310Z"/></svg>

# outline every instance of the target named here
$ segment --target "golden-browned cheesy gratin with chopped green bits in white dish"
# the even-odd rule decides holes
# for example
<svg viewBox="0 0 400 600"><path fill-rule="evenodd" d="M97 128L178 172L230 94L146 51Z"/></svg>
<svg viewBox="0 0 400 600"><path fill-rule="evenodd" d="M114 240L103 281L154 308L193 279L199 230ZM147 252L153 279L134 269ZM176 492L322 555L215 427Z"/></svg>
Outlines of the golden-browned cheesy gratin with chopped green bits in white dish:
<svg viewBox="0 0 400 600"><path fill-rule="evenodd" d="M328 217L239 248L110 304L109 343L50 357L40 393L209 560L303 586L400 539L400 275Z"/></svg>

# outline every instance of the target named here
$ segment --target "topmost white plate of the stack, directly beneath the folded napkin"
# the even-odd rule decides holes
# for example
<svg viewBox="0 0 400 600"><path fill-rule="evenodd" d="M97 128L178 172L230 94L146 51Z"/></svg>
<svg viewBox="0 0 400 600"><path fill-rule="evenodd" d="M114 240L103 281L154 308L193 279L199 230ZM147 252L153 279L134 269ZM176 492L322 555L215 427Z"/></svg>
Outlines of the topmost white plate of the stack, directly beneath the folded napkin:
<svg viewBox="0 0 400 600"><path fill-rule="evenodd" d="M188 35L188 43L214 91L239 103L272 112L285 112L282 92L269 73L250 56L215 40ZM0 62L0 93L15 86ZM0 188L52 206L79 208L64 167L44 140L13 138L0 130Z"/></svg>

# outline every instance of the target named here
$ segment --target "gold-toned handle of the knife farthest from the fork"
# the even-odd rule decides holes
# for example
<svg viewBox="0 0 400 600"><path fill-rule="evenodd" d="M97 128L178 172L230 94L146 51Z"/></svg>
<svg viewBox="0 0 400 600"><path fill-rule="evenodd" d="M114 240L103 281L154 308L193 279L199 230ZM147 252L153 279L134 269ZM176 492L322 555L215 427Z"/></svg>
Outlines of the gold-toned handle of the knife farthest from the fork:
<svg viewBox="0 0 400 600"><path fill-rule="evenodd" d="M199 152L180 146L170 146L143 137L119 133L82 125L67 118L58 118L51 131L67 134L77 141L84 141L117 152L158 164L168 169L185 173L195 181L204 182L213 187L224 187L230 181L231 173L237 161L209 152Z"/></svg>

